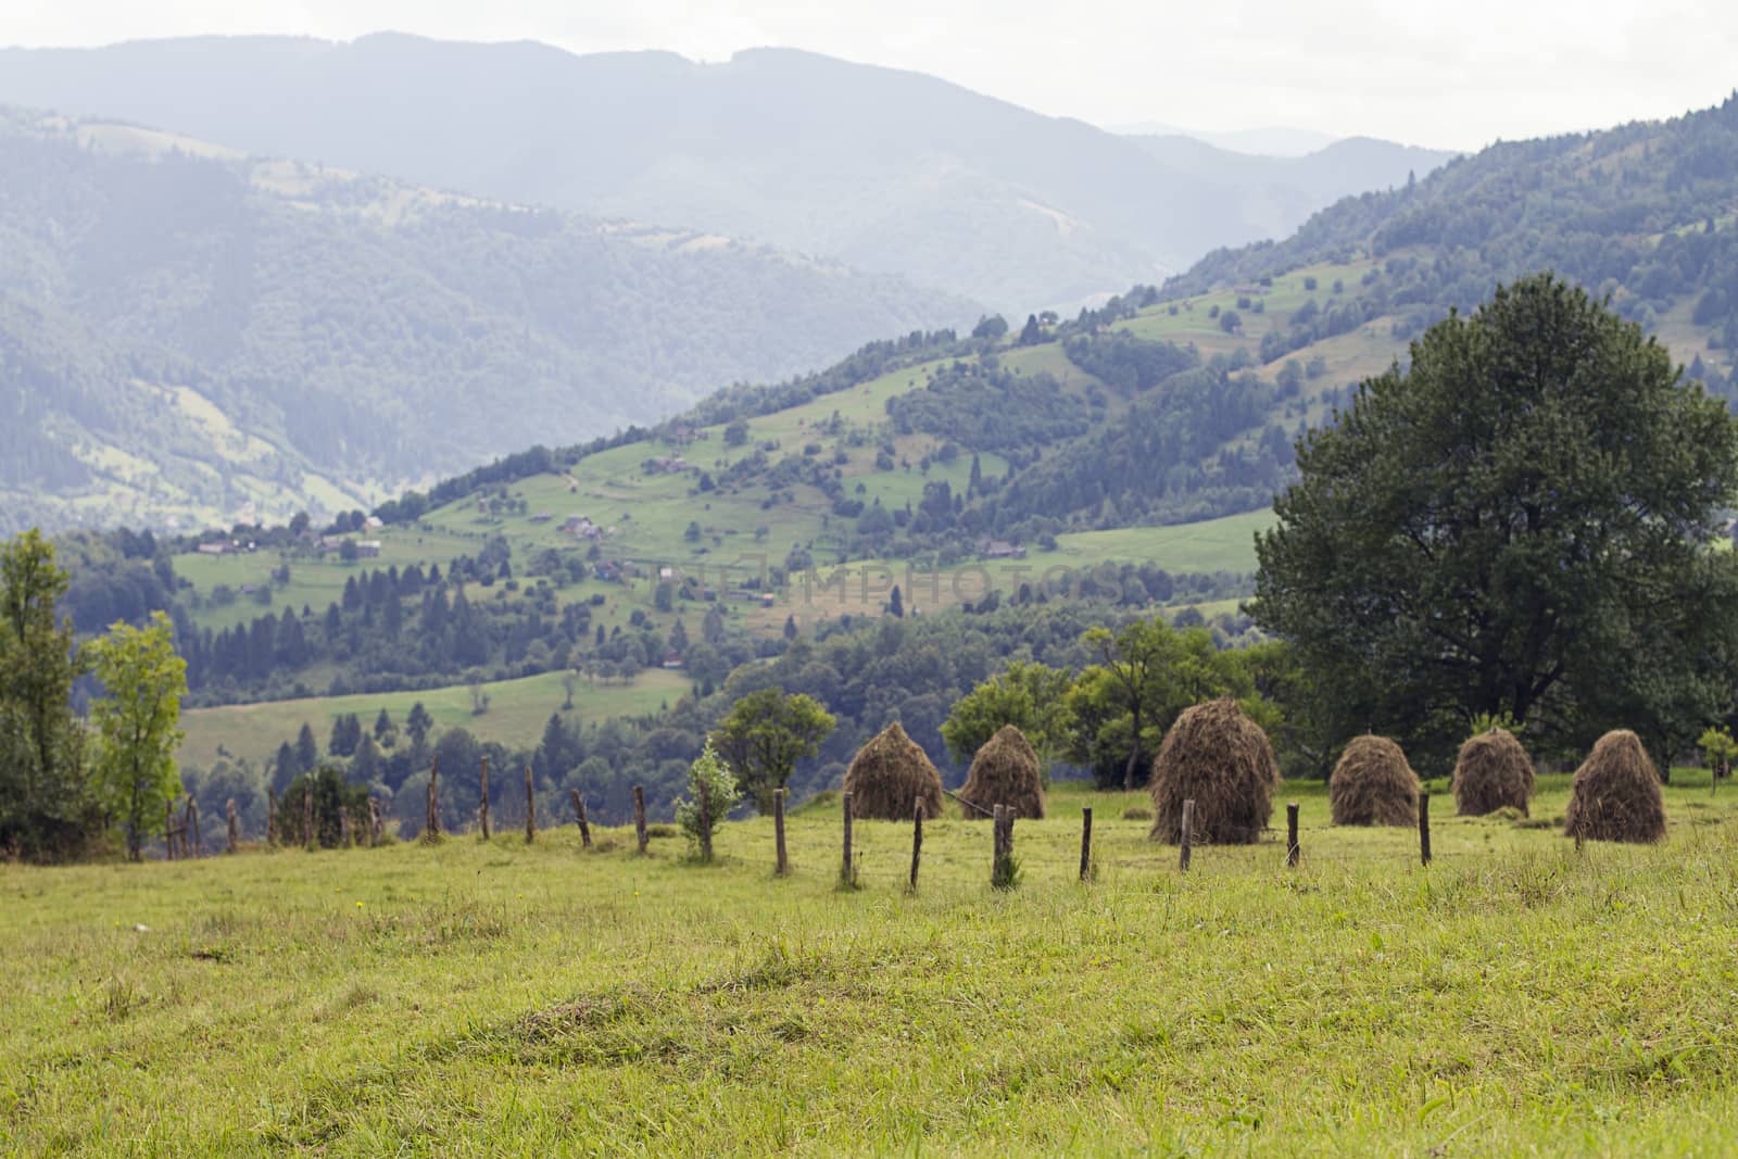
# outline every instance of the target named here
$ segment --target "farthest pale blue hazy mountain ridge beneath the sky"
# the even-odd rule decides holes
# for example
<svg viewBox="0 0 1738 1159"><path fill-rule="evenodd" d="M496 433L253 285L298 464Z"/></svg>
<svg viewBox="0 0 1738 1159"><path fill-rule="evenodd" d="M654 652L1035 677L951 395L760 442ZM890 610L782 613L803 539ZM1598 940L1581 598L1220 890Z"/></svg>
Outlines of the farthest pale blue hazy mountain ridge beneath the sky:
<svg viewBox="0 0 1738 1159"><path fill-rule="evenodd" d="M726 64L405 35L14 49L0 101L758 238L1018 311L1283 236L1446 158L1389 146L1387 163L1321 163L1300 184L1283 163L1178 163L932 76L784 49Z"/></svg>

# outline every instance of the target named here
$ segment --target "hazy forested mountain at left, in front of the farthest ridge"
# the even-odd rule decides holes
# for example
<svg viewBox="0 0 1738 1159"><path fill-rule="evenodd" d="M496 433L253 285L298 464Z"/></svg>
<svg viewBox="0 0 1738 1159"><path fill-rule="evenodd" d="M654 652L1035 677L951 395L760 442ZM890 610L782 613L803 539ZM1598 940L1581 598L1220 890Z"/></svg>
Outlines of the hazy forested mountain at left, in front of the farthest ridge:
<svg viewBox="0 0 1738 1159"><path fill-rule="evenodd" d="M0 109L0 533L367 506L973 316L716 235Z"/></svg>

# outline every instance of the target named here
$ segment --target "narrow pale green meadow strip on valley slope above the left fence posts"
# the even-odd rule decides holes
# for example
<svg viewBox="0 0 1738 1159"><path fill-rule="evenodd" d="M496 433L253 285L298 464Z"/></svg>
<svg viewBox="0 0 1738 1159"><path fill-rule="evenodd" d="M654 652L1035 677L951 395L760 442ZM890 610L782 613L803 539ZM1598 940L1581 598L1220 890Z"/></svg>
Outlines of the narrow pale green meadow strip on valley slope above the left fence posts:
<svg viewBox="0 0 1738 1159"><path fill-rule="evenodd" d="M664 669L640 672L627 685L577 679L568 725L575 716L579 721L596 723L612 716L657 712L659 705L674 704L688 692L688 678L683 672ZM262 761L276 752L282 742L294 742L302 721L313 725L315 737L325 744L332 721L346 712L356 712L363 726L370 728L381 709L386 709L403 728L410 705L417 702L434 718L436 732L462 726L481 740L535 747L549 714L561 711L567 700L561 672L492 681L481 690L488 695L488 711L481 716L471 714L468 685L191 709L181 719L188 737L177 756L181 761L209 766L222 749L229 756Z"/></svg>

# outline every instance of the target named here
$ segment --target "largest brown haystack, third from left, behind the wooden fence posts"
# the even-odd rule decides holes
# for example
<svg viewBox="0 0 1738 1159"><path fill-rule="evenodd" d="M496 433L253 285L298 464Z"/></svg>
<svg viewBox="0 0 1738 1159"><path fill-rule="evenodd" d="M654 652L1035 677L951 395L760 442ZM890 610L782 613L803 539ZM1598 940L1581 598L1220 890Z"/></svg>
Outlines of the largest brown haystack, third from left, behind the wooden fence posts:
<svg viewBox="0 0 1738 1159"><path fill-rule="evenodd" d="M1152 763L1152 839L1175 844L1184 801L1194 799L1194 839L1253 844L1272 815L1279 763L1267 733L1236 700L1197 704L1164 733Z"/></svg>

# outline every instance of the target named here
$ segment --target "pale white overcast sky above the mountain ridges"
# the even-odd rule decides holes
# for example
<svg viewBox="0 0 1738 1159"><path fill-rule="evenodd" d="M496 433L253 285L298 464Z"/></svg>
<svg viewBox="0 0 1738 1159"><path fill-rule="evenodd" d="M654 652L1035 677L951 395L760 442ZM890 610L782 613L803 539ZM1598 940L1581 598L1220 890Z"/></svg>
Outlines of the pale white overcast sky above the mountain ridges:
<svg viewBox="0 0 1738 1159"><path fill-rule="evenodd" d="M368 31L673 49L784 45L1100 125L1288 125L1470 149L1714 104L1738 3L1655 0L0 0L0 43Z"/></svg>

